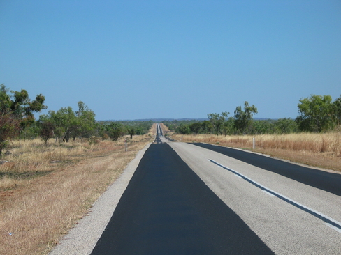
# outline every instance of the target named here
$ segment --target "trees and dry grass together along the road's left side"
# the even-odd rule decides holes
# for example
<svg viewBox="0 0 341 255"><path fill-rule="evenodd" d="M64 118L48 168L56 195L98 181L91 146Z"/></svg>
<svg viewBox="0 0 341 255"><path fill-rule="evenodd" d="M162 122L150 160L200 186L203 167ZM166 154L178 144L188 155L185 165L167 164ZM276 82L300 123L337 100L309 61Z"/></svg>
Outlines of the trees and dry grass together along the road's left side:
<svg viewBox="0 0 341 255"><path fill-rule="evenodd" d="M0 254L48 254L154 140L152 121L96 122L82 101L36 120L46 108L0 85Z"/></svg>

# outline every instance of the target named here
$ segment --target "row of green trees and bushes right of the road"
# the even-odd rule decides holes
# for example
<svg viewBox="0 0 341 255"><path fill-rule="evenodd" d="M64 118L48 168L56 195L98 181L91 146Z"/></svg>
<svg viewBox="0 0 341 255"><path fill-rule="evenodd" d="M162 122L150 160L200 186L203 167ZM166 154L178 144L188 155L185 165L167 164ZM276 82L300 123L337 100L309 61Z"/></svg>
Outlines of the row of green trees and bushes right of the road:
<svg viewBox="0 0 341 255"><path fill-rule="evenodd" d="M293 132L326 132L341 125L341 95L335 101L330 95L311 95L298 103L296 119L254 120L257 108L245 101L244 107L235 108L234 116L228 111L208 114L205 121L164 121L178 134L289 134Z"/></svg>

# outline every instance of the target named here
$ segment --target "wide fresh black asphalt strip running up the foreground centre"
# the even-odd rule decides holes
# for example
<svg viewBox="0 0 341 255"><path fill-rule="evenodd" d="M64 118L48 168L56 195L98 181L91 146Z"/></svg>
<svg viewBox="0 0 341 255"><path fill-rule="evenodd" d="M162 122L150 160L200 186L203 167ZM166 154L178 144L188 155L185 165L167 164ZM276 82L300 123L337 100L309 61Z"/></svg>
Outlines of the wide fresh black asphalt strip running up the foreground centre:
<svg viewBox="0 0 341 255"><path fill-rule="evenodd" d="M168 144L151 144L92 255L273 254Z"/></svg>

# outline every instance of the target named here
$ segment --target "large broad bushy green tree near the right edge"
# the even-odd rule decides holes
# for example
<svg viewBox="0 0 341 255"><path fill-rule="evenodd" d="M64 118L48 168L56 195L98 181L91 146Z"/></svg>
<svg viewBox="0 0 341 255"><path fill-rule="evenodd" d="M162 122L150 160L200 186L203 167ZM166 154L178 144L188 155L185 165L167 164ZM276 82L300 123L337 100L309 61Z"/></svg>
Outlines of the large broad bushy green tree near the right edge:
<svg viewBox="0 0 341 255"><path fill-rule="evenodd" d="M310 98L301 98L298 103L299 115L296 123L301 131L324 132L330 130L335 117L335 106L330 95L311 95Z"/></svg>

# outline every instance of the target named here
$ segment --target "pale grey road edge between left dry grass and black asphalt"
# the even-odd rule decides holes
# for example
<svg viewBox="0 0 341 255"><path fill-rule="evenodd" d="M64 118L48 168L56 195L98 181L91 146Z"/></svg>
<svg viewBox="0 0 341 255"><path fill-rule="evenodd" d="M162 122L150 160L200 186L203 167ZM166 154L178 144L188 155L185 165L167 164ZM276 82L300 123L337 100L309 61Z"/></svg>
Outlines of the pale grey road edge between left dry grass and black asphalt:
<svg viewBox="0 0 341 255"><path fill-rule="evenodd" d="M108 190L90 208L89 215L80 219L80 222L52 249L50 255L91 254L96 242L113 216L117 203L121 199L124 190L126 190L126 186L128 186L133 173L135 173L140 160L149 147L150 144L147 144L136 154L136 157L129 162L122 175L108 187Z"/></svg>

